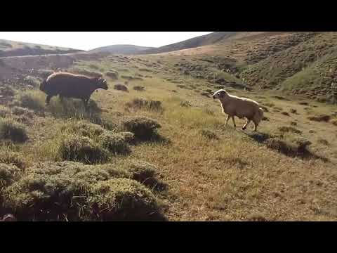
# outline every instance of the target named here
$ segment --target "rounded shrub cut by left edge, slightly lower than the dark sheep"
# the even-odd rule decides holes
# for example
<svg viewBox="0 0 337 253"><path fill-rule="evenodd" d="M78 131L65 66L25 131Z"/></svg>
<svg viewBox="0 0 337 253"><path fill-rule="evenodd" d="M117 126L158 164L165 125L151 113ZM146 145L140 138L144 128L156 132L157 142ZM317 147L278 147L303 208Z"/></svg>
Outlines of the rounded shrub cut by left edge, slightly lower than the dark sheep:
<svg viewBox="0 0 337 253"><path fill-rule="evenodd" d="M27 141L25 126L13 119L0 119L0 140L10 140L15 143Z"/></svg>

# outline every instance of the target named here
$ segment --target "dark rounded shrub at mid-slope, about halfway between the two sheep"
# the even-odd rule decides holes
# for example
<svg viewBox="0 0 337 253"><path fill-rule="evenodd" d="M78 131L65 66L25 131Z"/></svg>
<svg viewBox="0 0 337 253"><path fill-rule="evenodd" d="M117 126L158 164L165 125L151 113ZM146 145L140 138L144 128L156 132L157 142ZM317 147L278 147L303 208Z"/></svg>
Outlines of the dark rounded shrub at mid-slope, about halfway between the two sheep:
<svg viewBox="0 0 337 253"><path fill-rule="evenodd" d="M136 138L143 141L158 137L157 129L160 127L156 120L147 117L128 117L121 122L122 130L131 131Z"/></svg>

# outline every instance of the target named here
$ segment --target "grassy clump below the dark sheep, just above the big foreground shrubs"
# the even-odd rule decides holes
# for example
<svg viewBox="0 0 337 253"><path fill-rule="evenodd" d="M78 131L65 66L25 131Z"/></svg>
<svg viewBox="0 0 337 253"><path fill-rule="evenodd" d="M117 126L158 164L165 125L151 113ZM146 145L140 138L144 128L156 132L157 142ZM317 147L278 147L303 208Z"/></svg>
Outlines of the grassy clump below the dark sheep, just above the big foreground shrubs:
<svg viewBox="0 0 337 253"><path fill-rule="evenodd" d="M97 164L107 161L108 153L99 143L86 136L69 135L60 143L62 160Z"/></svg>

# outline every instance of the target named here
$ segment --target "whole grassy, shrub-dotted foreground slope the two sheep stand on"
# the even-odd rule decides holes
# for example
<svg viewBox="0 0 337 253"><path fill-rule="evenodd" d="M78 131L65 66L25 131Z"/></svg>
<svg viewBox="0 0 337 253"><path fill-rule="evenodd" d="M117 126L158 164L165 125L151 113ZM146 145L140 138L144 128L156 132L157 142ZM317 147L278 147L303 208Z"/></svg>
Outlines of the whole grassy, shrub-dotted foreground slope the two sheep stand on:
<svg viewBox="0 0 337 253"><path fill-rule="evenodd" d="M336 106L235 89L227 84L241 80L227 73L216 78L226 83L217 84L177 71L182 61L196 62L195 56L154 55L75 63L70 71L103 74L109 84L93 93L89 112L81 101L62 104L55 97L46 107L38 88L16 90L0 108L0 151L7 154L1 214L62 221L336 221ZM242 131L241 119L236 129L232 122L225 127L212 98L220 86L263 106L257 133L253 124ZM130 117L138 122L126 123ZM137 127L148 124L140 119L160 127L147 122L157 130L143 138ZM22 139L11 140L5 126ZM126 131L134 141L121 137Z"/></svg>

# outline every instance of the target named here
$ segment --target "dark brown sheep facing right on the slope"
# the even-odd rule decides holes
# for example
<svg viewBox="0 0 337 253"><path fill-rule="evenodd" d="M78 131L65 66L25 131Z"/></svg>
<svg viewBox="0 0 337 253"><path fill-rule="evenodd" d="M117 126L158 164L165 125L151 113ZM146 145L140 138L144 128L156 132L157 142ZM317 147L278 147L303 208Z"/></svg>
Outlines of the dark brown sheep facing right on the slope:
<svg viewBox="0 0 337 253"><path fill-rule="evenodd" d="M101 77L86 77L81 74L56 72L40 85L40 90L47 94L48 105L53 96L62 98L80 98L87 108L88 100L96 89L107 90L107 81Z"/></svg>

